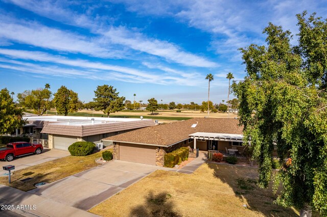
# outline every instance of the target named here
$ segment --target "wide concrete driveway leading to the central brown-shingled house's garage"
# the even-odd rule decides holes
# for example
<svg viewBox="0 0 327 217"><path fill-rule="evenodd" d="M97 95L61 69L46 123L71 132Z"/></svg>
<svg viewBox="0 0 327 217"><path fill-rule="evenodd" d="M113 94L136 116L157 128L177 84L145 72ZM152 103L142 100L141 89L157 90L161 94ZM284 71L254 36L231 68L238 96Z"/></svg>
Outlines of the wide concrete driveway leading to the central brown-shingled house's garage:
<svg viewBox="0 0 327 217"><path fill-rule="evenodd" d="M29 193L88 210L157 169L161 168L112 160L104 165L43 185Z"/></svg>

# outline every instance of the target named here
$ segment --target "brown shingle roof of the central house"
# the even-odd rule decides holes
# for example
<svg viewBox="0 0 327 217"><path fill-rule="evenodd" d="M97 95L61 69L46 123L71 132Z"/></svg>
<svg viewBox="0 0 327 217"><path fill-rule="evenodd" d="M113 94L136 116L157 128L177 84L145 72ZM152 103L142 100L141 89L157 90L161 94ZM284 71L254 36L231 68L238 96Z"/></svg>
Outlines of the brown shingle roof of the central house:
<svg viewBox="0 0 327 217"><path fill-rule="evenodd" d="M196 124L192 128L192 124ZM106 141L129 142L137 144L169 146L189 138L195 132L213 132L243 134L243 127L238 126L238 119L226 118L193 118L171 124L150 126L130 132L113 135Z"/></svg>

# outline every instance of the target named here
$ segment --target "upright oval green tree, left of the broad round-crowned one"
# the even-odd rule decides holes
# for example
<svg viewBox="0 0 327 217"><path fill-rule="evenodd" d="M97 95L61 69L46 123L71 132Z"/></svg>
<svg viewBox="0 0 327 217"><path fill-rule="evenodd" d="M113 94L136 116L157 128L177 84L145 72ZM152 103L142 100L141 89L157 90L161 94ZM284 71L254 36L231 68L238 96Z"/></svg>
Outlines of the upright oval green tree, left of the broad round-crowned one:
<svg viewBox="0 0 327 217"><path fill-rule="evenodd" d="M58 114L74 113L78 111L78 94L61 86L53 99Z"/></svg>

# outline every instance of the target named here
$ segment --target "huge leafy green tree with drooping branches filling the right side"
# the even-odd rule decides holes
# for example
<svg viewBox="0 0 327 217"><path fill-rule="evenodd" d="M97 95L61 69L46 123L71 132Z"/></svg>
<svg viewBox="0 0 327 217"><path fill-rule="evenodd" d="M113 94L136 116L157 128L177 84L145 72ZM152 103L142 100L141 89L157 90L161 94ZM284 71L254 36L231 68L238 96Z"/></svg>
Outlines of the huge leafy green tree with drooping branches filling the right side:
<svg viewBox="0 0 327 217"><path fill-rule="evenodd" d="M327 215L327 21L306 16L297 15L297 46L289 31L269 23L266 46L241 48L247 75L232 88L260 186L273 176L276 145L282 165L273 176L274 189L282 184L276 202L299 208L301 216L312 208Z"/></svg>

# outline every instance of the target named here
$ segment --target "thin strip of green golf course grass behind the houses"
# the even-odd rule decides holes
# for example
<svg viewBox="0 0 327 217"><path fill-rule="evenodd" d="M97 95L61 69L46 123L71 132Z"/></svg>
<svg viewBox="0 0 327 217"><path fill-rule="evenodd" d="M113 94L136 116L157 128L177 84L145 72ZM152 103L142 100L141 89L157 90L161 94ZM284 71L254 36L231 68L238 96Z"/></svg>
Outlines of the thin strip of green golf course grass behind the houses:
<svg viewBox="0 0 327 217"><path fill-rule="evenodd" d="M48 114L50 115L55 115L56 112L48 112ZM44 114L43 114L44 115ZM89 117L106 117L105 114L90 114L90 113L86 113L86 112L76 112L76 113L68 113L68 116L89 116ZM139 115L110 115L111 118L139 118ZM158 116L158 115L153 115L153 116L144 116L143 117L145 119L155 119L155 120L177 120L177 121L181 121L181 120L189 120L191 118L188 117L162 117L162 116Z"/></svg>

